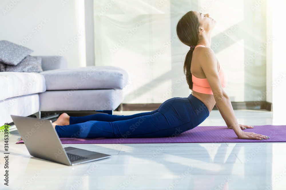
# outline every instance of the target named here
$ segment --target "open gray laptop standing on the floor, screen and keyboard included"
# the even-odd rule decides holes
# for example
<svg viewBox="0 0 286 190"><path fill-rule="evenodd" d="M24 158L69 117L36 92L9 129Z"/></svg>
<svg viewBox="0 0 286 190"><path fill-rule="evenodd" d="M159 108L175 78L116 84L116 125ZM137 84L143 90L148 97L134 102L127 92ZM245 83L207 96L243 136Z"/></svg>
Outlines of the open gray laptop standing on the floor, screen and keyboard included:
<svg viewBox="0 0 286 190"><path fill-rule="evenodd" d="M68 166L111 157L80 148L63 148L51 120L16 115L11 118L31 156Z"/></svg>

